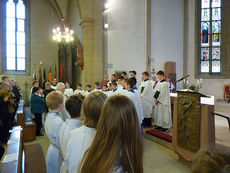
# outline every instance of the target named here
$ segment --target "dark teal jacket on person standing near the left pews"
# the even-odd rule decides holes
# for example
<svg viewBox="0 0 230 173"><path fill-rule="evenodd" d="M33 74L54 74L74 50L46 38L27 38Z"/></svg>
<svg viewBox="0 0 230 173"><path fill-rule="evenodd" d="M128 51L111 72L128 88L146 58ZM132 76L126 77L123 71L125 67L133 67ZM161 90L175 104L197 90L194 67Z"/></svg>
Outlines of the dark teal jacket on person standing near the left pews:
<svg viewBox="0 0 230 173"><path fill-rule="evenodd" d="M30 105L31 113L42 114L44 111L45 100L41 98L39 95L32 94Z"/></svg>

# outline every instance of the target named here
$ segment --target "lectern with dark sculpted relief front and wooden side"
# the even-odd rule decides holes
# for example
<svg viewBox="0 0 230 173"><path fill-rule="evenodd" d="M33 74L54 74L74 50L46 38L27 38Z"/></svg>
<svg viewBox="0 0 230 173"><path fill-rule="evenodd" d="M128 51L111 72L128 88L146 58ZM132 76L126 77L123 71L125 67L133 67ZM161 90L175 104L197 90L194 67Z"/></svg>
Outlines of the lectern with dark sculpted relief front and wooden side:
<svg viewBox="0 0 230 173"><path fill-rule="evenodd" d="M173 147L180 157L193 161L200 148L215 145L214 97L189 91L178 91L175 97Z"/></svg>

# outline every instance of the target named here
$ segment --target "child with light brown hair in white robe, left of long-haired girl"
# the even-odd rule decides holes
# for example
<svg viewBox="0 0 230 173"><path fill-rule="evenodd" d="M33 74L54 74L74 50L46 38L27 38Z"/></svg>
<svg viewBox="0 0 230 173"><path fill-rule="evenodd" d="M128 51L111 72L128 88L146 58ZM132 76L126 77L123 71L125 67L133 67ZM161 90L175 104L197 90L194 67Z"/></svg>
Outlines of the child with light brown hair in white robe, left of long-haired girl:
<svg viewBox="0 0 230 173"><path fill-rule="evenodd" d="M81 162L85 151L93 141L101 109L106 98L107 96L104 93L95 91L90 93L83 101L81 109L83 126L71 131L66 147L66 173L77 172L79 163Z"/></svg>

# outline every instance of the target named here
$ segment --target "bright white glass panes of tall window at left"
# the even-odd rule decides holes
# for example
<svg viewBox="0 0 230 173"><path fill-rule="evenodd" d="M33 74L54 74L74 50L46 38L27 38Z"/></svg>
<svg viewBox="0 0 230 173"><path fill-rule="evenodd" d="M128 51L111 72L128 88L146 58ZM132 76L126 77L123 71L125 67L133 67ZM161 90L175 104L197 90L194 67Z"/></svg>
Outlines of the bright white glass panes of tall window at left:
<svg viewBox="0 0 230 173"><path fill-rule="evenodd" d="M22 0L6 3L6 70L25 71L25 5Z"/></svg>

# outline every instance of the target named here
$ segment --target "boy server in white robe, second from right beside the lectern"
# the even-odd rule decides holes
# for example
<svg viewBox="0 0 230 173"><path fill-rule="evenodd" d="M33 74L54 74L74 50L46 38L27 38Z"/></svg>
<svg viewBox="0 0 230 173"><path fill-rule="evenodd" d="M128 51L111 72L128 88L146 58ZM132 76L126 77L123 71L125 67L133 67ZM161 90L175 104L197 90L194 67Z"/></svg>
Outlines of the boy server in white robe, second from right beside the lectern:
<svg viewBox="0 0 230 173"><path fill-rule="evenodd" d="M144 114L143 126L152 126L152 108L153 108L153 84L149 80L149 73L147 71L142 73L142 82L138 88L141 95L142 109Z"/></svg>

